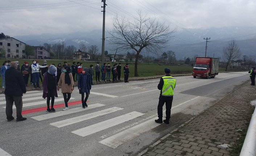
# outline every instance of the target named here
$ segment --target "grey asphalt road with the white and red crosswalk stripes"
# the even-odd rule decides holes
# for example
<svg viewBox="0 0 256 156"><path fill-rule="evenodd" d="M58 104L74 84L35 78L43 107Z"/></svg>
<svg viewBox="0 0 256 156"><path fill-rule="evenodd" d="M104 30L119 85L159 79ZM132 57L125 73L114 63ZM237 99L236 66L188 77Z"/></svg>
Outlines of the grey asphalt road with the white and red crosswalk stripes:
<svg viewBox="0 0 256 156"><path fill-rule="evenodd" d="M0 156L5 152L12 156L133 156L243 84L249 75L234 72L214 79L176 79L170 125L154 122L159 79L94 85L86 109L75 88L69 110L62 111L61 106L56 113L46 112L42 91L28 92L23 97L23 116L28 120L22 122L7 122L5 98L0 95ZM57 98L56 107L62 98ZM15 117L15 107L13 112Z"/></svg>

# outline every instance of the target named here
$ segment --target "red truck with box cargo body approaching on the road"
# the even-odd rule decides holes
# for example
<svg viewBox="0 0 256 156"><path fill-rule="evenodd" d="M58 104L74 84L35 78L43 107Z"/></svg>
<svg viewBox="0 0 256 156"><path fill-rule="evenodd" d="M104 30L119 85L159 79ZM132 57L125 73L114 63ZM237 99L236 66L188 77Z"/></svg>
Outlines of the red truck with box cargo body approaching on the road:
<svg viewBox="0 0 256 156"><path fill-rule="evenodd" d="M219 74L219 58L196 58L192 75L196 77L214 78Z"/></svg>

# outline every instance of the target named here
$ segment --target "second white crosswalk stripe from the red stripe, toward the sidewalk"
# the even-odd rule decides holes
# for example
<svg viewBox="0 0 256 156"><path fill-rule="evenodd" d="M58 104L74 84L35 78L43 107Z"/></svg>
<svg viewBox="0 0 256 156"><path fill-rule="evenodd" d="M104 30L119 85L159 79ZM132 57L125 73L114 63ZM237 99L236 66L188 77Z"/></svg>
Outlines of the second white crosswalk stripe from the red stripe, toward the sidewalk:
<svg viewBox="0 0 256 156"><path fill-rule="evenodd" d="M99 117L108 113L113 113L117 110L122 110L123 108L119 108L119 107L112 107L112 108L108 108L108 109L104 109L101 111L96 111L94 113L90 113L90 114L85 114L85 115L81 115L79 117L74 117L74 118L70 118L70 119L66 119L66 120L62 120L62 121L58 121L58 122L54 122L54 123L50 123L50 125L53 125L55 127L64 127L67 125L71 125L73 123L78 123L81 121L86 121L88 119L92 119L95 117Z"/></svg>

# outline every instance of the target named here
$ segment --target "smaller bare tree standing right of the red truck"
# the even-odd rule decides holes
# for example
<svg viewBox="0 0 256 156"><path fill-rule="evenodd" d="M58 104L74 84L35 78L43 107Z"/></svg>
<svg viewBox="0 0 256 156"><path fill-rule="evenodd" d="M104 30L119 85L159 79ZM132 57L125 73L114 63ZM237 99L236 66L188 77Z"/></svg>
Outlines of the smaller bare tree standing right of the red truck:
<svg viewBox="0 0 256 156"><path fill-rule="evenodd" d="M230 43L228 43L228 46L223 48L223 59L224 62L226 62L226 70L230 64L230 62L239 59L241 56L240 48L238 47L235 40L232 40Z"/></svg>

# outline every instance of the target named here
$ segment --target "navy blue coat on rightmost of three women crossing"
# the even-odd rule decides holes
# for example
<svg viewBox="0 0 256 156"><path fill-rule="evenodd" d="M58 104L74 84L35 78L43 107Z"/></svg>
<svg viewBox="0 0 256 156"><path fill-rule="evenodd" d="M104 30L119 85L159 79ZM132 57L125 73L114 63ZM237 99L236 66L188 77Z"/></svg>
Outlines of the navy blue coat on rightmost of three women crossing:
<svg viewBox="0 0 256 156"><path fill-rule="evenodd" d="M90 74L85 75L85 74L81 73L79 75L78 89L79 89L80 94L81 93L90 93L90 90L91 90L91 75Z"/></svg>

